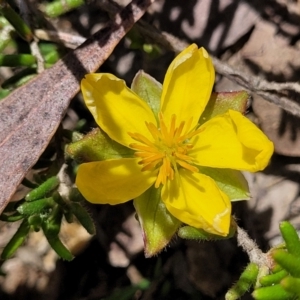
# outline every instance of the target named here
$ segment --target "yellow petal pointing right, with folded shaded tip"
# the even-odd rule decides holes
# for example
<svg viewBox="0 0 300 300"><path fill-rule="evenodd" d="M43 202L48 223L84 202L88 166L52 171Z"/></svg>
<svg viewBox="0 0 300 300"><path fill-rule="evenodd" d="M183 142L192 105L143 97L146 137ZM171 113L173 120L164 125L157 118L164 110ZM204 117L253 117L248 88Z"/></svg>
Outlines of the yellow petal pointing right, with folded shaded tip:
<svg viewBox="0 0 300 300"><path fill-rule="evenodd" d="M273 154L273 143L237 111L216 116L201 128L191 151L200 166L256 172L268 165Z"/></svg>

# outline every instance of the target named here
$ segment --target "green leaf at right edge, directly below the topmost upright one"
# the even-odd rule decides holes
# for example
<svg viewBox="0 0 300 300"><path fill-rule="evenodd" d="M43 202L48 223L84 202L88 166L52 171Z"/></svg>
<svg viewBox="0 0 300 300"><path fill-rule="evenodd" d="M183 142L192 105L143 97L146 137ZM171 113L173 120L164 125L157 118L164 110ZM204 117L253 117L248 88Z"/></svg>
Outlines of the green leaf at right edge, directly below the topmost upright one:
<svg viewBox="0 0 300 300"><path fill-rule="evenodd" d="M300 278L300 258L285 250L274 250L271 255L275 262L288 271L292 276Z"/></svg>

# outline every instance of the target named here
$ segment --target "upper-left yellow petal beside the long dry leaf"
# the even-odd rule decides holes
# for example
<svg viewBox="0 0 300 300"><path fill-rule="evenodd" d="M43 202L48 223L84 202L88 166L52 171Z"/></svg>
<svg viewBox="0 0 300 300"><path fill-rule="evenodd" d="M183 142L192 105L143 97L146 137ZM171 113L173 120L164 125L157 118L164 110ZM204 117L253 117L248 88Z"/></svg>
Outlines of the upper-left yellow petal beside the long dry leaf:
<svg viewBox="0 0 300 300"><path fill-rule="evenodd" d="M155 117L123 80L111 74L88 74L81 81L81 90L95 121L111 139L128 147L133 142L128 132L152 138L145 121L156 125Z"/></svg>

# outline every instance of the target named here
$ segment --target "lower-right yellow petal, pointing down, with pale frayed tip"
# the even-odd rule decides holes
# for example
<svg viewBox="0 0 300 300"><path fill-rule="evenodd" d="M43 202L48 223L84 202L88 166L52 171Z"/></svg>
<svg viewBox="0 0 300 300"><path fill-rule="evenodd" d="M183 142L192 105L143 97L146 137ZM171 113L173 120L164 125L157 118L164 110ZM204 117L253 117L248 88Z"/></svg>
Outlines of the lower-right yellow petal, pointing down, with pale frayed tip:
<svg viewBox="0 0 300 300"><path fill-rule="evenodd" d="M169 180L162 200L169 212L190 226L226 236L229 232L231 203L208 176L179 170L179 182Z"/></svg>

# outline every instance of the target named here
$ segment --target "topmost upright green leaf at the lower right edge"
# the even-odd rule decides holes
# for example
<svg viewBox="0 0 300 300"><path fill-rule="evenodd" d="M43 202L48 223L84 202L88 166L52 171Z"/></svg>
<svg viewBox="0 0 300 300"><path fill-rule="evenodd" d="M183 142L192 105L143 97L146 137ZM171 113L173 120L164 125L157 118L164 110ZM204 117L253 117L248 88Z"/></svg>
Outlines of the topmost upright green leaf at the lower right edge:
<svg viewBox="0 0 300 300"><path fill-rule="evenodd" d="M296 229L288 221L281 222L279 228L288 252L300 258L300 240Z"/></svg>

